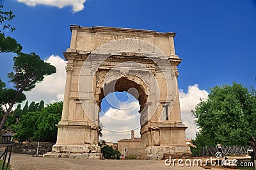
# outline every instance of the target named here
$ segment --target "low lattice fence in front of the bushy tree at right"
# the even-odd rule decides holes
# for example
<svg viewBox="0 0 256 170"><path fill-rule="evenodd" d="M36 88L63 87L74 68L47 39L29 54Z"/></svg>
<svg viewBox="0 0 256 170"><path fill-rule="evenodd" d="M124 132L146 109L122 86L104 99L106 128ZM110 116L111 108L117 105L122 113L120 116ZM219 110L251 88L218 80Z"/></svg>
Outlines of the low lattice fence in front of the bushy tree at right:
<svg viewBox="0 0 256 170"><path fill-rule="evenodd" d="M251 146L223 146L222 153L224 155L246 155L247 150L252 150ZM216 146L205 146L202 149L202 155L212 157L217 152Z"/></svg>

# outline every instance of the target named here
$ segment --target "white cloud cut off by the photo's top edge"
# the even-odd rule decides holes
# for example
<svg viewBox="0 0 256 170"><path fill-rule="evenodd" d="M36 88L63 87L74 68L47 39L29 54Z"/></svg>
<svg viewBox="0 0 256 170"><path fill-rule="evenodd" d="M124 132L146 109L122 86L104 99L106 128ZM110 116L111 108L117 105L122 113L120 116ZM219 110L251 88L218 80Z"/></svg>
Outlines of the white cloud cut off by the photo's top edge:
<svg viewBox="0 0 256 170"><path fill-rule="evenodd" d="M73 12L79 12L84 9L84 3L86 0L17 0L20 3L25 3L28 6L36 6L37 4L43 4L48 6L56 6L63 8L64 6L72 6Z"/></svg>

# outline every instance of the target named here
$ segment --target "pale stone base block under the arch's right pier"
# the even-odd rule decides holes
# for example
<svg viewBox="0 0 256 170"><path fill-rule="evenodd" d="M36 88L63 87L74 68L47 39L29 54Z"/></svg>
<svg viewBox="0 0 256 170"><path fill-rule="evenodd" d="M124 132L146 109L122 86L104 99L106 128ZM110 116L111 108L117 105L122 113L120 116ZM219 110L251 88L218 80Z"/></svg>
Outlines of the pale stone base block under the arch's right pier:
<svg viewBox="0 0 256 170"><path fill-rule="evenodd" d="M166 155L179 158L191 156L185 129L181 123L148 123L142 126L139 158L161 160Z"/></svg>

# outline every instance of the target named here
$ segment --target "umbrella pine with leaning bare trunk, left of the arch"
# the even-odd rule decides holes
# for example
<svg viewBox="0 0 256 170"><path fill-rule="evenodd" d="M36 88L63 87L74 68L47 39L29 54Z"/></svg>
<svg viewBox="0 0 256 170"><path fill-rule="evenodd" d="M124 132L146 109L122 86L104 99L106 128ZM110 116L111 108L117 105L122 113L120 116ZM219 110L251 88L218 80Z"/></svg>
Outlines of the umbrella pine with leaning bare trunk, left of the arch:
<svg viewBox="0 0 256 170"><path fill-rule="evenodd" d="M17 93L1 120L0 132L12 110L13 105L19 99L20 95L22 95L22 92L35 88L36 82L43 81L45 75L51 75L56 72L56 68L54 66L49 63L45 63L45 61L40 59L35 52L32 52L31 54L23 54L20 52L13 58L13 61L14 72L8 73L8 77L10 78L10 81L13 82Z"/></svg>

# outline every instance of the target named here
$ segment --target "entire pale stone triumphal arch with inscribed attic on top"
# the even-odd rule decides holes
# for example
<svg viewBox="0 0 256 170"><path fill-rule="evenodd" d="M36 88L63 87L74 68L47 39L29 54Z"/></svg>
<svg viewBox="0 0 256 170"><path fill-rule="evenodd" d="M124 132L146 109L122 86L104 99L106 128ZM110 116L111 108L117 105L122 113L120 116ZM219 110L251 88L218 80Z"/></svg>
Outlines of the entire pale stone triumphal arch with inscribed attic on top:
<svg viewBox="0 0 256 170"><path fill-rule="evenodd" d="M63 112L52 153L98 157L100 103L115 91L139 101L140 158L190 153L180 118L177 66L182 59L175 54L175 33L76 25L70 30L70 48L63 52Z"/></svg>

